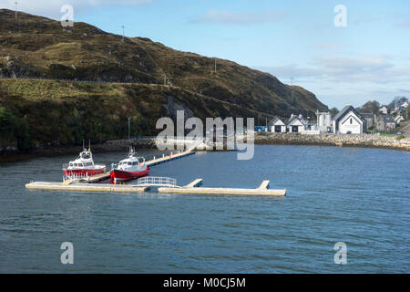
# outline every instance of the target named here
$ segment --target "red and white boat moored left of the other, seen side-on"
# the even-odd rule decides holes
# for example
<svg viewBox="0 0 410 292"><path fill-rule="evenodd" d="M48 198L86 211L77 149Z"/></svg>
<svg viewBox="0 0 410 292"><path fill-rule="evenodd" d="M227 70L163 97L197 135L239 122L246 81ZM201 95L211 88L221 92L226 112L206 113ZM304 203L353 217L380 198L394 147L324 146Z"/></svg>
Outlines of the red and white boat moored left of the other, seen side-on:
<svg viewBox="0 0 410 292"><path fill-rule="evenodd" d="M95 164L93 160L93 153L90 148L84 148L76 158L76 160L63 165L63 172L67 176L86 177L106 172L106 165Z"/></svg>

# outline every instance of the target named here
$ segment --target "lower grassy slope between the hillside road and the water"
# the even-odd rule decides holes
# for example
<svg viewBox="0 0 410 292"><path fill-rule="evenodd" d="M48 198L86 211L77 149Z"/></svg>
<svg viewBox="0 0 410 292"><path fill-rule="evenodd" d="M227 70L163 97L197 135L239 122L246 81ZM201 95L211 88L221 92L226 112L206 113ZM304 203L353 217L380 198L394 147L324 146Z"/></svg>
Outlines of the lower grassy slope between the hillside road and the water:
<svg viewBox="0 0 410 292"><path fill-rule="evenodd" d="M194 109L194 110L190 110ZM72 145L156 135L159 117L255 117L257 112L185 89L154 84L5 79L0 81L0 147Z"/></svg>

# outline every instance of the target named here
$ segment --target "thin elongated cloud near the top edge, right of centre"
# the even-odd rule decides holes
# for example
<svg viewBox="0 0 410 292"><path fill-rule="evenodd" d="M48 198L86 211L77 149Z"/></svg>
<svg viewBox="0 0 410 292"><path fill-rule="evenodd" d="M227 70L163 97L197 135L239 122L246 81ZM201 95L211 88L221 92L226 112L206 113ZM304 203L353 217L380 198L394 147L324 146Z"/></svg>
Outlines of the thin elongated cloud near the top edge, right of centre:
<svg viewBox="0 0 410 292"><path fill-rule="evenodd" d="M280 10L271 10L265 12L228 12L210 10L203 15L196 16L192 20L192 22L247 25L278 21L282 20L286 16L287 14Z"/></svg>

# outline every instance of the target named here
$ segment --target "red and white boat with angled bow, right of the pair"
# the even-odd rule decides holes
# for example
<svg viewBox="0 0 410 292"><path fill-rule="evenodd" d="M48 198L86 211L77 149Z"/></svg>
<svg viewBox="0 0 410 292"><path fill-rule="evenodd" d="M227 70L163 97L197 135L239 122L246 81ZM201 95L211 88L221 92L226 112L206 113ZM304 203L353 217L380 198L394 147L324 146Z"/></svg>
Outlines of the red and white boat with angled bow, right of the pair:
<svg viewBox="0 0 410 292"><path fill-rule="evenodd" d="M137 157L136 152L131 147L128 157L118 162L117 165L113 165L109 175L114 180L114 183L138 179L139 177L149 175L149 167L145 164L145 158Z"/></svg>

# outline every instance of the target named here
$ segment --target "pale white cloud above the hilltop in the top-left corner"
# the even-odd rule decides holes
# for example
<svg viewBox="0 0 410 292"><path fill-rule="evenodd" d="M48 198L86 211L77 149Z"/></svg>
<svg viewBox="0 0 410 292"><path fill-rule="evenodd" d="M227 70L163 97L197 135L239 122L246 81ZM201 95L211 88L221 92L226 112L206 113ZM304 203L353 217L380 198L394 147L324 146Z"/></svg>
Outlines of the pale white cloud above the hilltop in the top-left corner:
<svg viewBox="0 0 410 292"><path fill-rule="evenodd" d="M18 3L18 11L59 19L63 15L60 12L63 5L72 5L76 15L76 11L93 9L100 5L141 5L153 0L0 0L0 7L14 10L15 1Z"/></svg>

